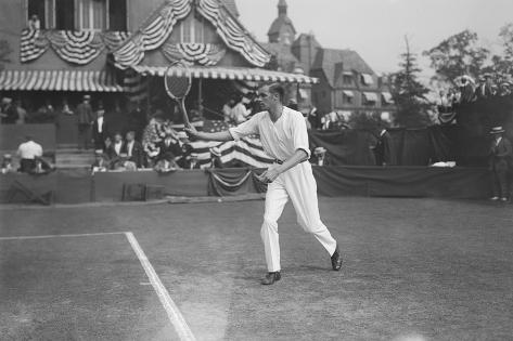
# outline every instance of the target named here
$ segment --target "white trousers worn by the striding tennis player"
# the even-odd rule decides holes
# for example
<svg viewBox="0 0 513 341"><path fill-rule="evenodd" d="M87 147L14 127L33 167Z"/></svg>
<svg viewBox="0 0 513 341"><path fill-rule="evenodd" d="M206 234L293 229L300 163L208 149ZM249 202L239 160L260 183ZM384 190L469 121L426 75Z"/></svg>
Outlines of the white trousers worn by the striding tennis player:
<svg viewBox="0 0 513 341"><path fill-rule="evenodd" d="M267 187L266 212L260 236L266 251L269 272L280 271L280 242L278 219L283 212L286 201L291 198L297 214L297 222L305 232L311 233L333 254L336 240L321 222L317 201L317 183L309 162L302 162L284 173Z"/></svg>

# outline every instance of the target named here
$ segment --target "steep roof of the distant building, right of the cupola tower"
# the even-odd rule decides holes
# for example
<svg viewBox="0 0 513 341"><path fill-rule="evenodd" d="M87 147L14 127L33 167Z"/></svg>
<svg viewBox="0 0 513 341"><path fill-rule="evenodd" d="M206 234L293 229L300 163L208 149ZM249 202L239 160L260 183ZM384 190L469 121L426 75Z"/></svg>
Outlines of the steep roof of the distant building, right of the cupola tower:
<svg viewBox="0 0 513 341"><path fill-rule="evenodd" d="M318 49L311 70L319 69L324 71L331 87L335 86L341 71L375 75L365 61L352 50Z"/></svg>

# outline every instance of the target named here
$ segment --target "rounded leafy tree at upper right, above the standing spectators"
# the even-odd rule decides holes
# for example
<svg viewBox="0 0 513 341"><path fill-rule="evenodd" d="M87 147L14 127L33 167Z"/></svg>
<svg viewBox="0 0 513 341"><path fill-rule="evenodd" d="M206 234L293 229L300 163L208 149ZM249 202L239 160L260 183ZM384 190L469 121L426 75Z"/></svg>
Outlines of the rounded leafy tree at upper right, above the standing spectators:
<svg viewBox="0 0 513 341"><path fill-rule="evenodd" d="M447 80L462 75L476 78L490 54L487 49L478 47L477 41L477 34L465 29L423 54L431 58L431 66L436 73Z"/></svg>

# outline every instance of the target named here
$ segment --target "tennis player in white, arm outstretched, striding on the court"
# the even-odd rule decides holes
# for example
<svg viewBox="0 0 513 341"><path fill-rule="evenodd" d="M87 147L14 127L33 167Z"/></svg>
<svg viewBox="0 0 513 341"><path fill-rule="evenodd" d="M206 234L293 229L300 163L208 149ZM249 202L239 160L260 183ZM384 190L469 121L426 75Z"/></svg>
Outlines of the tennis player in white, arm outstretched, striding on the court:
<svg viewBox="0 0 513 341"><path fill-rule="evenodd" d="M268 274L262 285L272 285L281 278L278 219L288 198L296 210L302 227L313 234L331 255L332 268L342 267L342 257L336 240L321 222L317 201L317 183L311 166L305 118L299 112L283 105L285 91L280 84L262 87L259 97L267 110L228 131L197 132L192 126L185 131L197 139L210 141L240 140L251 134L260 135L264 149L275 161L258 179L269 184L266 211L260 236L264 241Z"/></svg>

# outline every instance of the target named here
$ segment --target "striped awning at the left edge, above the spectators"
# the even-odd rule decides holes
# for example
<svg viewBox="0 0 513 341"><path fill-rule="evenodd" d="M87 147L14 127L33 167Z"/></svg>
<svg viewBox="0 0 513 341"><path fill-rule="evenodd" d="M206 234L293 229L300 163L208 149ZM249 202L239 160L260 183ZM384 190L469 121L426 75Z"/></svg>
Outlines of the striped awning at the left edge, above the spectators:
<svg viewBox="0 0 513 341"><path fill-rule="evenodd" d="M123 92L123 87L106 71L1 70L0 90Z"/></svg>

